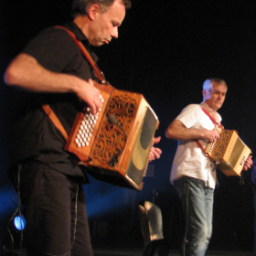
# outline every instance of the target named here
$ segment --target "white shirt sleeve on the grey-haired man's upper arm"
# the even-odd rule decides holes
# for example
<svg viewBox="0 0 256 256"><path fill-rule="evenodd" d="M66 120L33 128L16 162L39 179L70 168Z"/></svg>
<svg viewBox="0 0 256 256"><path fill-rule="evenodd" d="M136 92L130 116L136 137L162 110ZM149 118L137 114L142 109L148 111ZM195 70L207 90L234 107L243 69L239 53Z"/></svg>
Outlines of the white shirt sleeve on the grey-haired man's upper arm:
<svg viewBox="0 0 256 256"><path fill-rule="evenodd" d="M197 104L190 104L176 117L187 128L191 128L201 116L201 107Z"/></svg>

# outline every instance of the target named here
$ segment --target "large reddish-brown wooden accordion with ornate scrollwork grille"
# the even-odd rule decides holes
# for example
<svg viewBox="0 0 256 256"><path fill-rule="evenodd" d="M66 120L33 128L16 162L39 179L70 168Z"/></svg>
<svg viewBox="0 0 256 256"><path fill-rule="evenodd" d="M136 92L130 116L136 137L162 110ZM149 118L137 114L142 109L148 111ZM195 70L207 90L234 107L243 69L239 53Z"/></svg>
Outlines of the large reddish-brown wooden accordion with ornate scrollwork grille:
<svg viewBox="0 0 256 256"><path fill-rule="evenodd" d="M101 111L77 114L65 149L77 155L96 179L141 190L159 122L144 96L94 81Z"/></svg>

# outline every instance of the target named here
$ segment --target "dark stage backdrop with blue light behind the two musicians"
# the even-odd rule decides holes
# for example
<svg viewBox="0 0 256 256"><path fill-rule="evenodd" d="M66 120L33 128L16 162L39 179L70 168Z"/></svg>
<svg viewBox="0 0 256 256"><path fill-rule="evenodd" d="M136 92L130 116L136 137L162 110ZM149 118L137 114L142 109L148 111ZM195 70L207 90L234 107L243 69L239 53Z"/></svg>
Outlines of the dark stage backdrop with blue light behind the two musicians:
<svg viewBox="0 0 256 256"><path fill-rule="evenodd" d="M195 3L196 2L196 3ZM69 18L71 0L9 0L0 7L0 70L42 28L62 24ZM226 129L255 150L255 1L133 0L119 29L119 38L95 48L107 80L119 89L144 94L159 118L160 160L150 165L144 189L137 192L113 187L91 178L85 186L87 208L95 246L142 246L137 204L154 201L164 217L165 236L177 248L181 219L169 174L176 142L165 138L165 129L189 103L202 101L202 84L209 77L226 80L229 91L219 113ZM16 205L6 170L16 125L14 111L19 92L0 80L0 234L1 246L9 246L7 223ZM254 158L254 154L253 158ZM219 172L214 206L214 229L210 248L251 251L253 206L250 172L240 177ZM16 194L14 194L16 197ZM10 224L11 226L11 224ZM14 235L16 233L14 232Z"/></svg>

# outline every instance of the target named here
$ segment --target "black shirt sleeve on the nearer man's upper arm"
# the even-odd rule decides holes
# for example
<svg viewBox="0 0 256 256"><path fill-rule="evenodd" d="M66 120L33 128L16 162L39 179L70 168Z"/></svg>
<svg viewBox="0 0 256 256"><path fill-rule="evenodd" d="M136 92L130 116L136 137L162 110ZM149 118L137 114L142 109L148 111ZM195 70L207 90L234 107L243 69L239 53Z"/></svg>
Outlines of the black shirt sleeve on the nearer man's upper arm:
<svg viewBox="0 0 256 256"><path fill-rule="evenodd" d="M22 52L37 59L44 68L61 72L78 54L78 48L65 30L48 27L34 37Z"/></svg>

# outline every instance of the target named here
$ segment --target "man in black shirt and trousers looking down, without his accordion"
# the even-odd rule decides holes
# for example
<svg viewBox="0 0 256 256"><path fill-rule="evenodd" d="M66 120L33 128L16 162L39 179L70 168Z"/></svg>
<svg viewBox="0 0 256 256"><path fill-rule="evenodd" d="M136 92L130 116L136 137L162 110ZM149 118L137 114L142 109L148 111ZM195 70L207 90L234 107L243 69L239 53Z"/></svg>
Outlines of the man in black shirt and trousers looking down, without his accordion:
<svg viewBox="0 0 256 256"><path fill-rule="evenodd" d="M97 60L90 45L100 47L117 38L130 5L129 0L74 0L74 19L65 27ZM92 80L88 60L69 34L57 27L39 33L5 71L8 85L31 96L19 113L9 171L25 207L28 256L93 255L82 190L87 177L64 151L65 138L41 108L49 104L69 133L82 101L93 114L101 108L100 92ZM161 150L153 147L150 160L160 155Z"/></svg>

